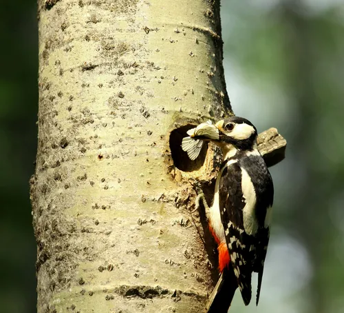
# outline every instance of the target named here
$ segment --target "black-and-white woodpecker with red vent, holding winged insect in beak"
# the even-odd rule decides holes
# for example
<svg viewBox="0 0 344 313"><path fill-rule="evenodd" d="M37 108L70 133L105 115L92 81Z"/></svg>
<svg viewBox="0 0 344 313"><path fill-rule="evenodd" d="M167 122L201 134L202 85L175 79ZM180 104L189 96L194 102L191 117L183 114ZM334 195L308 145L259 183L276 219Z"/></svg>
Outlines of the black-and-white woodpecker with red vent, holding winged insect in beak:
<svg viewBox="0 0 344 313"><path fill-rule="evenodd" d="M195 159L201 142L221 148L223 163L215 183L213 204L208 208L199 194L209 227L218 245L219 281L208 301L208 312L227 312L239 287L245 305L251 300L252 272L258 273L258 305L264 261L269 241L274 188L270 172L257 150L257 129L241 117L202 123L189 130L182 149Z"/></svg>

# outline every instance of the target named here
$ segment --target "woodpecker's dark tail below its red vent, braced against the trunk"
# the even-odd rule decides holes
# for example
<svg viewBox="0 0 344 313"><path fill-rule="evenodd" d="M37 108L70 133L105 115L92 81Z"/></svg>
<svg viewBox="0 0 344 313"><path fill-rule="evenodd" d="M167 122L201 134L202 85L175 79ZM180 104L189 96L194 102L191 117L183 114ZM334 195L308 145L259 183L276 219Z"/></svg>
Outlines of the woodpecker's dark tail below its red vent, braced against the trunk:
<svg viewBox="0 0 344 313"><path fill-rule="evenodd" d="M226 268L206 303L207 313L227 313L237 290L237 279L232 267Z"/></svg>

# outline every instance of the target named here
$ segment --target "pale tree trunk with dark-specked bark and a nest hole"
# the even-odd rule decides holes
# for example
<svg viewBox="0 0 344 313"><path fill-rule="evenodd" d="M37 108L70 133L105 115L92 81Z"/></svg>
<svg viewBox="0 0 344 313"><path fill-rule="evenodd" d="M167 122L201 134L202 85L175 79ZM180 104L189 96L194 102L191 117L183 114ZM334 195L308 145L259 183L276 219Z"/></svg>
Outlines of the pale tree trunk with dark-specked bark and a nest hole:
<svg viewBox="0 0 344 313"><path fill-rule="evenodd" d="M38 312L204 310L217 159L180 141L229 112L219 1L39 0Z"/></svg>

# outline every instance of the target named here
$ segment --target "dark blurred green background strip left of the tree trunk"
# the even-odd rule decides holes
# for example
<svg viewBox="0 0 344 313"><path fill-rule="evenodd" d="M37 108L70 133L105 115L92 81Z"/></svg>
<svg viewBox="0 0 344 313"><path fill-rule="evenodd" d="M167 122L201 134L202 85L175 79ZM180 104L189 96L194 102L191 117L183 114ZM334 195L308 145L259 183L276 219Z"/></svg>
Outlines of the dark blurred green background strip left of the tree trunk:
<svg viewBox="0 0 344 313"><path fill-rule="evenodd" d="M0 9L0 312L36 312L36 245L28 180L36 156L36 1Z"/></svg>

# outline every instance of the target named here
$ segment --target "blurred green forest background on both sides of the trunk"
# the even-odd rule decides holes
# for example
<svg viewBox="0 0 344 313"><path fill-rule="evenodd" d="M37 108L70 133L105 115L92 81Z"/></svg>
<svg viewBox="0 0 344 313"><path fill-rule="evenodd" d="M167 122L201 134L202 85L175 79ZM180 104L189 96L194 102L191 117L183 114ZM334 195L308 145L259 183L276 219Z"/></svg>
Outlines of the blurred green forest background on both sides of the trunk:
<svg viewBox="0 0 344 313"><path fill-rule="evenodd" d="M36 312L28 180L36 154L36 1L0 10L0 312ZM344 312L344 1L222 0L224 65L235 114L288 139L275 181L259 307Z"/></svg>

